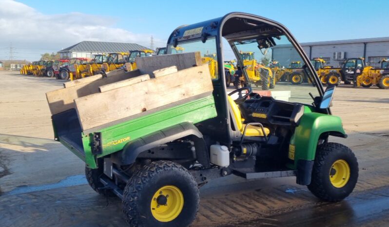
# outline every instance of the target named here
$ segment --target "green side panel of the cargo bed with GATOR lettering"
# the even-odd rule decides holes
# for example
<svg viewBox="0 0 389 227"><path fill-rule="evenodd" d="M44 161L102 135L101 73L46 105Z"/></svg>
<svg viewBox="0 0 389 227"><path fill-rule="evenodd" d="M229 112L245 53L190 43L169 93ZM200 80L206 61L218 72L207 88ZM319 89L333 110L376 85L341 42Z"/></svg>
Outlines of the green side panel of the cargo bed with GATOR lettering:
<svg viewBox="0 0 389 227"><path fill-rule="evenodd" d="M102 154L97 155L97 158L109 155L120 151L123 147L137 138L148 135L152 132L162 130L180 123L191 122L193 124L215 117L216 110L214 105L214 97L208 95L206 97L196 99L175 107L171 107L153 114L147 114L127 122L113 125L94 132L101 132L102 138ZM55 137L70 151L82 159L88 168L96 169L96 158L92 153L93 133L81 132L83 151L78 151L70 143L61 140L56 133L56 125L54 126Z"/></svg>

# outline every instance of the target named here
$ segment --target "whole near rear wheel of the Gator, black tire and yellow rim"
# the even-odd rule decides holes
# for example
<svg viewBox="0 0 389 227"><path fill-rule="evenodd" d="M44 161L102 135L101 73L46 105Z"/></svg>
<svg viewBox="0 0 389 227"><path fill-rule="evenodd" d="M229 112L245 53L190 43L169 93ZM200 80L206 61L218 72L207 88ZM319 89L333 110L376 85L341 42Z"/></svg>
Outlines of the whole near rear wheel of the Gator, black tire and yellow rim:
<svg viewBox="0 0 389 227"><path fill-rule="evenodd" d="M122 208L131 227L185 227L193 222L198 204L193 175L179 164L161 160L130 178Z"/></svg>

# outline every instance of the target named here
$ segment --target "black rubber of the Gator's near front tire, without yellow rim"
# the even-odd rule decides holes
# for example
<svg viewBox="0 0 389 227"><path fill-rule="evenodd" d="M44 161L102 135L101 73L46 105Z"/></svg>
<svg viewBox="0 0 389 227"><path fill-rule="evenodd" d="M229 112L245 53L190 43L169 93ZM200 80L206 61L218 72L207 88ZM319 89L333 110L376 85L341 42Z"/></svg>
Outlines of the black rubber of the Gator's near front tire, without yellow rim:
<svg viewBox="0 0 389 227"><path fill-rule="evenodd" d="M343 188L336 189L331 185L330 180L328 179L328 182L326 182L326 179L323 179L321 177L321 174L323 172L326 172L323 170L326 164L328 164L326 163L326 160L331 159L331 155L342 156L342 153L340 153L341 151L345 152L343 154L348 156L348 158L352 161L350 162L350 160L346 160L350 166L351 173L350 173L349 182ZM329 171L328 174L330 174ZM349 194L354 189L357 180L358 180L358 162L354 153L351 151L350 148L348 148L343 144L331 143L331 142L318 145L316 150L316 157L312 169L311 184L308 185L308 189L312 192L312 194L314 194L316 197L324 201L338 202L343 200L347 196L349 196ZM329 188L326 188L327 186L329 186ZM331 190L333 189L335 189L335 191L336 190L340 191L343 189L343 191L341 191L343 193L336 194L335 192L331 194Z"/></svg>

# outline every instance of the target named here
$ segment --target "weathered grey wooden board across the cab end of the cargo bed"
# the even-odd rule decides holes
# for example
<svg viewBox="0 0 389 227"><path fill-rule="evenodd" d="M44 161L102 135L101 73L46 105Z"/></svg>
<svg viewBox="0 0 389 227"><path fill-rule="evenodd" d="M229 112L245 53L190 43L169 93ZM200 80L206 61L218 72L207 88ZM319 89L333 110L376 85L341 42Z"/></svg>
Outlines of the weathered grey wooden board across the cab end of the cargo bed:
<svg viewBox="0 0 389 227"><path fill-rule="evenodd" d="M176 66L177 70L187 69L193 66L202 65L200 52L176 54L176 55L158 55L153 57L137 57L135 58L136 68L142 74L148 74L154 77L153 72L167 68L169 66Z"/></svg>

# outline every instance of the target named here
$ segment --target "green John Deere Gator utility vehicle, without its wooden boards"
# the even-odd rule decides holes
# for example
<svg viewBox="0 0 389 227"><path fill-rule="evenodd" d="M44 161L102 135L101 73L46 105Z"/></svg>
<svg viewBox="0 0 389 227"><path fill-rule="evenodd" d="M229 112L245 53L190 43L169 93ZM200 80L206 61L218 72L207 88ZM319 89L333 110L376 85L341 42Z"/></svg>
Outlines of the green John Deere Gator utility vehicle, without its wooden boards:
<svg viewBox="0 0 389 227"><path fill-rule="evenodd" d="M227 95L223 38L241 68L241 50L269 53L276 45L290 45L314 86L296 86L289 102L280 101L253 92L256 81L243 70L246 87ZM246 179L295 176L297 184L324 201L340 201L352 192L357 159L350 148L328 141L330 136L347 138L341 119L331 115L335 86L323 90L310 59L285 26L230 13L175 29L167 53L177 46L200 56L216 53L219 69L207 102L184 105L185 111L182 106L153 114L147 110L128 122L89 132L80 130L74 109L52 116L56 139L86 162L92 189L122 199L130 226L189 226L199 206L197 187L230 174ZM99 104L105 102L116 100Z"/></svg>

